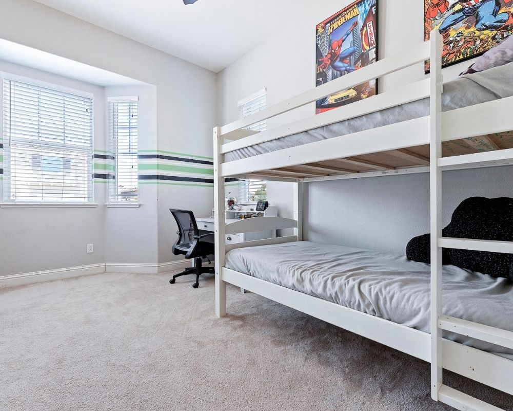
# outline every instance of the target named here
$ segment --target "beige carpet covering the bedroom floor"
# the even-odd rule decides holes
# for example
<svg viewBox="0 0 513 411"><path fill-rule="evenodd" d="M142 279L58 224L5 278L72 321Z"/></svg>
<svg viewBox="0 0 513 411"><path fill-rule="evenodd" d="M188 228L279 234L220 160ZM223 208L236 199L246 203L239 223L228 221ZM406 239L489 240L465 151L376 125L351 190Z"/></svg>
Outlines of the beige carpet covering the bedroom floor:
<svg viewBox="0 0 513 411"><path fill-rule="evenodd" d="M0 409L442 410L427 363L213 278L102 274L0 291ZM513 409L510 396L448 375Z"/></svg>

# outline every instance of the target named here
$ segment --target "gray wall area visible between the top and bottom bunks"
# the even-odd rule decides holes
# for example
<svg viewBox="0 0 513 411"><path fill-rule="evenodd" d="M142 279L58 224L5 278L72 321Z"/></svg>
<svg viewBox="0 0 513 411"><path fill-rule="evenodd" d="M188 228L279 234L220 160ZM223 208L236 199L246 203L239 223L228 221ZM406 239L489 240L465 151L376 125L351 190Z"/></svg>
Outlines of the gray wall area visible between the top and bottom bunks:
<svg viewBox="0 0 513 411"><path fill-rule="evenodd" d="M443 224L468 197L513 196L513 167L443 173ZM305 186L305 240L403 253L429 232L429 174Z"/></svg>

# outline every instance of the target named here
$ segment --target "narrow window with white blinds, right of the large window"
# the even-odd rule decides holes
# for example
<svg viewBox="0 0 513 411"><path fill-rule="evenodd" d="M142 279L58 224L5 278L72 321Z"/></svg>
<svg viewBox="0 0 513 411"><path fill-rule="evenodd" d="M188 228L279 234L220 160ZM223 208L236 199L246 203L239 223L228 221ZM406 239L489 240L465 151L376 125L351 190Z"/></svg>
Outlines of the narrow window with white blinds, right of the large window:
<svg viewBox="0 0 513 411"><path fill-rule="evenodd" d="M110 202L136 202L137 184L137 97L109 99L110 152L113 181Z"/></svg>

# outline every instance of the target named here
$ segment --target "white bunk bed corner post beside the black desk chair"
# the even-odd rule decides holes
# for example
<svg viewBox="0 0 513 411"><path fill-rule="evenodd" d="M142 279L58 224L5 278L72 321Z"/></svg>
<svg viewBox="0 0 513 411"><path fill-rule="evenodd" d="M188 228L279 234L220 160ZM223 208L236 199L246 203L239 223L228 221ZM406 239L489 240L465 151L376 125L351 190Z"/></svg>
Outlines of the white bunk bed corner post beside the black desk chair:
<svg viewBox="0 0 513 411"><path fill-rule="evenodd" d="M215 241L215 315L226 315L226 283L221 277L221 268L225 264L225 183L221 175L221 163L224 155L221 153L223 138L221 127L214 127L214 241Z"/></svg>

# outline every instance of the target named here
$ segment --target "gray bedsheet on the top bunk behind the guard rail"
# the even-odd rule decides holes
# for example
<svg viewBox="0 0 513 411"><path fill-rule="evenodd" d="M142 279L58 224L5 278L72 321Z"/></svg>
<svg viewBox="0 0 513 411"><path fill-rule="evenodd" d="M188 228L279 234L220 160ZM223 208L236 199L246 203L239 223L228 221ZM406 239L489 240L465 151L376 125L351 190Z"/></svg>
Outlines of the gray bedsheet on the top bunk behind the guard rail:
<svg viewBox="0 0 513 411"><path fill-rule="evenodd" d="M491 68L489 70L468 74L444 84L442 109L444 111L485 103L499 98L513 96L513 63ZM344 108L339 108L343 110ZM411 120L429 115L429 99L414 101L386 110L376 111L365 116L356 117L307 132L282 137L250 147L241 148L225 154L225 161L252 157L270 153L283 148L294 147L314 141L344 136L366 129Z"/></svg>

